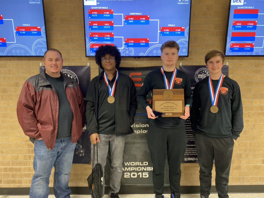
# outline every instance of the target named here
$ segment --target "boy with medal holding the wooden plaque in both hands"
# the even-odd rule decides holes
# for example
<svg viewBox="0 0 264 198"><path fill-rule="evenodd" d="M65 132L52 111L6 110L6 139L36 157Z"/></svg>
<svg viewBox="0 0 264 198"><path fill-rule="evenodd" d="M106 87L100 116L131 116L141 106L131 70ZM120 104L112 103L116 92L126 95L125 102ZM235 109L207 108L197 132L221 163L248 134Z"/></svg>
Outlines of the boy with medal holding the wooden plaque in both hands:
<svg viewBox="0 0 264 198"><path fill-rule="evenodd" d="M147 110L149 128L147 133L148 148L153 163L153 187L156 198L163 198L164 168L166 159L169 165L171 198L180 197L181 160L186 149L186 132L184 120L189 117L192 104L190 80L186 73L177 70L179 45L167 41L161 46L163 66L145 77L138 92L138 103ZM184 89L185 112L180 117L162 117L153 112L146 100L147 94L153 89ZM165 97L170 94L165 93ZM169 97L167 98L169 101Z"/></svg>

